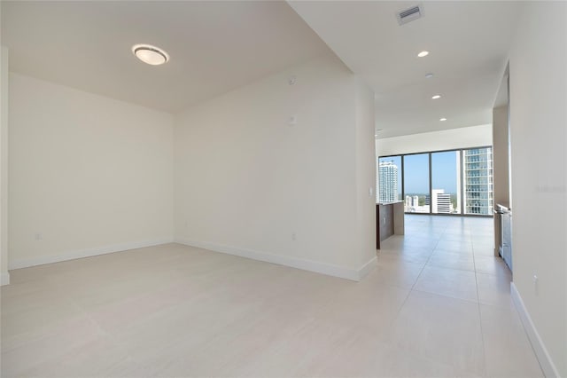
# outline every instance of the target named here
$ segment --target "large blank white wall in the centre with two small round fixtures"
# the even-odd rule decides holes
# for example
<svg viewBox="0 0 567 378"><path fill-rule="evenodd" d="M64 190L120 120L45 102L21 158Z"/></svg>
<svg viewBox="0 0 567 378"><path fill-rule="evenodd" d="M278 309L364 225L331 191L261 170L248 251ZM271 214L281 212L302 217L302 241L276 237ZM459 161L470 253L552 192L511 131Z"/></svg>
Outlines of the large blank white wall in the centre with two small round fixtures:
<svg viewBox="0 0 567 378"><path fill-rule="evenodd" d="M325 56L179 114L176 240L358 280L376 258L376 229L359 222L375 211L373 94L361 85Z"/></svg>

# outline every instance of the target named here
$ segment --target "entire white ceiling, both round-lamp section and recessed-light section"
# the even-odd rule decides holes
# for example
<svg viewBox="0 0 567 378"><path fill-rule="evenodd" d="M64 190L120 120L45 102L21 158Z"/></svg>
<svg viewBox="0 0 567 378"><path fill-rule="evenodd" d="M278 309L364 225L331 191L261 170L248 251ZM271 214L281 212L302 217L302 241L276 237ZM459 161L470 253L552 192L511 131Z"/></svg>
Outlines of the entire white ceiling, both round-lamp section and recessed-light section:
<svg viewBox="0 0 567 378"><path fill-rule="evenodd" d="M401 27L395 13L418 2L290 4L2 1L1 42L12 72L172 113L329 45L376 92L379 138L492 122L518 2L424 1L424 17ZM135 43L171 60L147 66Z"/></svg>

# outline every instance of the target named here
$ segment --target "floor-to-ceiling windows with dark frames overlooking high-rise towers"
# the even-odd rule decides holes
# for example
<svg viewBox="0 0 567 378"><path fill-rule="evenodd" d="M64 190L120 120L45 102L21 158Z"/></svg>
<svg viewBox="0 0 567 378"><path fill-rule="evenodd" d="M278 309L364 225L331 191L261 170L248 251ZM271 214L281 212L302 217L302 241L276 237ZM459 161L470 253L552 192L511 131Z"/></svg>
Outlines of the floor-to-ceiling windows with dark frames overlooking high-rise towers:
<svg viewBox="0 0 567 378"><path fill-rule="evenodd" d="M381 156L377 201L404 201L407 213L492 216L492 147Z"/></svg>

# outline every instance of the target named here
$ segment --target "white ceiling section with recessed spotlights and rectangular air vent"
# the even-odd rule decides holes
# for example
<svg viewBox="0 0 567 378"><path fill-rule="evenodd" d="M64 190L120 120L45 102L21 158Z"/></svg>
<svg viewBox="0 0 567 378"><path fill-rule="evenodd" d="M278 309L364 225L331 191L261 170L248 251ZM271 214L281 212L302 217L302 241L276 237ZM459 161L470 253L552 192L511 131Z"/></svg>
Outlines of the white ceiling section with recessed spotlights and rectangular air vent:
<svg viewBox="0 0 567 378"><path fill-rule="evenodd" d="M423 18L400 26L395 13L420 3ZM290 4L376 92L378 138L492 122L518 2ZM423 50L430 55L417 58Z"/></svg>

